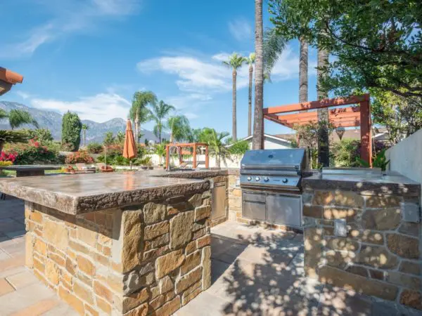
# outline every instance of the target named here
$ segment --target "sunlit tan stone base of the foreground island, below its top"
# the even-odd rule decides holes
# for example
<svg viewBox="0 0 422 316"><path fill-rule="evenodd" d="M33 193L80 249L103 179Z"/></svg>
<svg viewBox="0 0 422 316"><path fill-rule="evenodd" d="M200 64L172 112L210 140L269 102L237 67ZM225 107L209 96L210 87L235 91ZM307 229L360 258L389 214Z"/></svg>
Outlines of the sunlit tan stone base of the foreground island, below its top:
<svg viewBox="0 0 422 316"><path fill-rule="evenodd" d="M80 315L171 315L210 287L210 198L78 216L26 202L26 265Z"/></svg>

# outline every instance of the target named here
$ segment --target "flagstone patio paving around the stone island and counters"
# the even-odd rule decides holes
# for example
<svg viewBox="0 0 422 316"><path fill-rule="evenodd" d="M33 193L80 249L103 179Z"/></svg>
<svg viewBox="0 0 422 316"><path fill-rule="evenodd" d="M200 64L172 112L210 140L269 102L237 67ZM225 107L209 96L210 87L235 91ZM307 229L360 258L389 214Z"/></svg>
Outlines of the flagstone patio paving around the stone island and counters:
<svg viewBox="0 0 422 316"><path fill-rule="evenodd" d="M77 315L24 266L23 202L0 200L0 315ZM302 235L226 222L212 228L212 286L177 316L422 315L324 286L303 271Z"/></svg>

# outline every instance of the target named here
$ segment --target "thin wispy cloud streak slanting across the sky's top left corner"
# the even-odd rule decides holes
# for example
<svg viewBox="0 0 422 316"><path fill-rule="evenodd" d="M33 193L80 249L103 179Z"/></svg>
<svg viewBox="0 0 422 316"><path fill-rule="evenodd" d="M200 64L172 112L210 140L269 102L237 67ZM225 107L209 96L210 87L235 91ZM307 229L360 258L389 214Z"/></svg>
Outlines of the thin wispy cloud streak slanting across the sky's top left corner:
<svg viewBox="0 0 422 316"><path fill-rule="evenodd" d="M44 0L36 4L44 6L51 14L50 20L43 25L36 25L23 40L4 43L0 58L19 58L29 56L37 48L49 41L54 41L67 34L87 32L107 19L120 18L134 13L141 0Z"/></svg>

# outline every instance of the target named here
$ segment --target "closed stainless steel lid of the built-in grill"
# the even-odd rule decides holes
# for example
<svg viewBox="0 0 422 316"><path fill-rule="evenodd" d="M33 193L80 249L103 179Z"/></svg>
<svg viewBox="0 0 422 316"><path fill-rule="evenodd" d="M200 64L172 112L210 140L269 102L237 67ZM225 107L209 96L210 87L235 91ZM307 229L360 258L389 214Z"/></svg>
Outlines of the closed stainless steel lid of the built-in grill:
<svg viewBox="0 0 422 316"><path fill-rule="evenodd" d="M305 149L248 150L241 161L241 169L290 169L304 167Z"/></svg>

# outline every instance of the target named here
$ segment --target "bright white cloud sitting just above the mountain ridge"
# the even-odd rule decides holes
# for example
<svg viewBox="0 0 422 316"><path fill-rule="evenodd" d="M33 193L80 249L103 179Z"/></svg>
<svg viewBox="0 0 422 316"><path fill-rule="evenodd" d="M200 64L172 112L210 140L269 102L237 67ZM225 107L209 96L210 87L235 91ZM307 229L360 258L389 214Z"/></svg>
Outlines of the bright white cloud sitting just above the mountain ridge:
<svg viewBox="0 0 422 316"><path fill-rule="evenodd" d="M115 93L98 93L95 96L82 97L74 101L34 98L31 100L31 105L60 112L60 114L70 110L77 112L81 119L103 122L115 117L127 118L131 103Z"/></svg>

